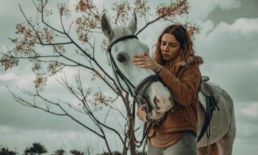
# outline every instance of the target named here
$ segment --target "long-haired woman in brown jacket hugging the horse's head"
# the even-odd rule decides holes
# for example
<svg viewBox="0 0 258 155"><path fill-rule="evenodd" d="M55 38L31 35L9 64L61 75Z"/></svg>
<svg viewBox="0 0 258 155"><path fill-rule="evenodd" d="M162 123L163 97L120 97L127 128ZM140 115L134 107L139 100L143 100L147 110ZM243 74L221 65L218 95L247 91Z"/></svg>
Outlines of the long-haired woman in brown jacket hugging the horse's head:
<svg viewBox="0 0 258 155"><path fill-rule="evenodd" d="M153 116L160 121L153 124L149 133L148 154L195 155L202 58L195 56L190 35L181 25L165 28L155 47L154 60L147 54L136 55L133 63L158 74L171 91L175 104L166 115L153 111ZM140 108L137 115L148 122Z"/></svg>

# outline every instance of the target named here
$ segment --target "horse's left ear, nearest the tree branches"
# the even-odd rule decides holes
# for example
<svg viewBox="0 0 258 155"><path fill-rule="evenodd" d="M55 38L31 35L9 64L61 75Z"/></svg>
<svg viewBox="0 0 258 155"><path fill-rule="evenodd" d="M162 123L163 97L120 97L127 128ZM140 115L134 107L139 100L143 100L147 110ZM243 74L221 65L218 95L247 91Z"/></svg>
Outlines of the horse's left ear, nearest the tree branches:
<svg viewBox="0 0 258 155"><path fill-rule="evenodd" d="M114 33L105 13L101 16L100 26L104 35L106 35L109 40L112 40Z"/></svg>

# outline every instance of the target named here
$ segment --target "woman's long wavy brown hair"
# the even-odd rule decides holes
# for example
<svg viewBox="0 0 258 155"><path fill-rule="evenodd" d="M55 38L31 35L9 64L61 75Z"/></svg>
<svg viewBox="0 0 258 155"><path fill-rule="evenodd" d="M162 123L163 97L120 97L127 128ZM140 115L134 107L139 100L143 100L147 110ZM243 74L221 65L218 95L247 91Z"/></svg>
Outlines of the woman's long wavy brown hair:
<svg viewBox="0 0 258 155"><path fill-rule="evenodd" d="M172 58L169 64L165 64L165 60L162 58L160 50L161 40L165 33L170 33L174 35L176 40L180 42L180 51L176 56L174 56L174 58ZM168 67L168 69L174 72L175 74L179 70L180 63L185 62L185 59L189 58L189 56L194 54L195 51L192 48L192 40L190 38L190 35L188 31L181 25L173 24L165 28L164 31L162 31L162 33L158 37L157 44L155 44L155 60L160 65L166 65L165 67Z"/></svg>

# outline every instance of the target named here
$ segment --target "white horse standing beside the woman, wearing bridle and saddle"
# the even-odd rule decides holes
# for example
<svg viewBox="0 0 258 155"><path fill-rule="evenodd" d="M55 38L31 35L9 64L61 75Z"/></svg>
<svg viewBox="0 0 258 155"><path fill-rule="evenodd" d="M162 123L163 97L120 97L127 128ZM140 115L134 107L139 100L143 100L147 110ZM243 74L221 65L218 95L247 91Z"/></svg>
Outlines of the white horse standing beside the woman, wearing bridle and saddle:
<svg viewBox="0 0 258 155"><path fill-rule="evenodd" d="M117 64L119 70L126 76L126 78L132 82L134 85L141 83L143 79L147 76L155 74L151 70L142 69L136 67L132 63L132 58L135 54L144 54L144 52L149 51L149 48L146 44L140 42L135 38L127 38L119 40L126 35L134 35L137 30L137 19L135 14L132 15L132 19L128 26L116 26L112 28L109 23L109 20L105 14L101 17L101 28L105 36L109 39L109 43L112 44L112 49L109 49L114 59L114 63ZM114 66L113 66L114 67ZM114 69L114 68L113 68ZM116 73L114 73L116 74ZM116 81L121 83L121 87L126 88L125 83L119 79L118 76L114 76ZM230 155L232 154L232 145L236 133L236 125L234 118L234 106L233 101L218 85L212 84L211 86L215 91L215 98L218 100L218 107L220 111L214 111L213 117L211 120L211 149L213 155ZM171 94L167 88L165 88L160 81L152 83L149 88L146 90L146 98L152 104L159 106L158 112L164 113L168 111L169 108L172 108L173 101L171 99ZM199 94L200 101L205 105L205 99L202 94ZM199 106L198 111L198 133L202 128L204 122L205 111L202 106ZM204 135L203 138L198 142L198 154L205 154L207 147L207 138Z"/></svg>

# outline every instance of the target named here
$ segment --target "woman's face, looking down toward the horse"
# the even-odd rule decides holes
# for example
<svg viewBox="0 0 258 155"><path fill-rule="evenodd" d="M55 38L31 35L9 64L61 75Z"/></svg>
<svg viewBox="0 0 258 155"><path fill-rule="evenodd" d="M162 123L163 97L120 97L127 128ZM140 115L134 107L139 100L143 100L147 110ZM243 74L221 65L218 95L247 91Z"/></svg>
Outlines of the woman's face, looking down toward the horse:
<svg viewBox="0 0 258 155"><path fill-rule="evenodd" d="M180 42L170 33L165 33L161 38L160 51L164 60L172 60L180 51Z"/></svg>

